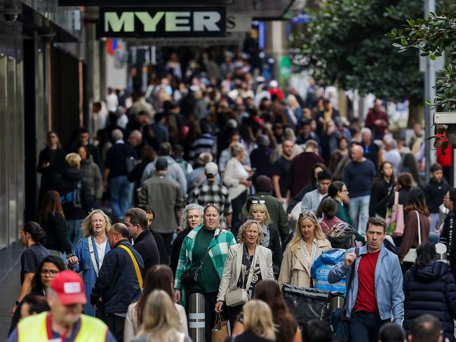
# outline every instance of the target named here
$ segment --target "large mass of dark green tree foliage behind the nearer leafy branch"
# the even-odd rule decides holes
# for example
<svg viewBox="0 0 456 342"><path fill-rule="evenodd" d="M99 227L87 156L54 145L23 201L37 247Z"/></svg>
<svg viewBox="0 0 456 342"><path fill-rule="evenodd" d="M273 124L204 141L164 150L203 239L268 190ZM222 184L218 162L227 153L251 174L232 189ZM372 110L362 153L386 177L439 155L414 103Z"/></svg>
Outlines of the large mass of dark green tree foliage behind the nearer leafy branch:
<svg viewBox="0 0 456 342"><path fill-rule="evenodd" d="M385 36L404 18L422 15L422 1L328 0L311 11L302 51L328 82L386 100L423 101L423 75L414 50L395 53Z"/></svg>

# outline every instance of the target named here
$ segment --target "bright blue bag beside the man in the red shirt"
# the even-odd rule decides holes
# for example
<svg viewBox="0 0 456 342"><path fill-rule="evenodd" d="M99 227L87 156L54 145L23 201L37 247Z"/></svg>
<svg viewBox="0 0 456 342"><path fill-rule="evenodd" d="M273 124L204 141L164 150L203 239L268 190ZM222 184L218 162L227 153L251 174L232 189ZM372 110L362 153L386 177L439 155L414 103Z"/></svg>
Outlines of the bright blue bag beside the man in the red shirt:
<svg viewBox="0 0 456 342"><path fill-rule="evenodd" d="M314 280L314 288L330 292L342 292L345 296L345 276L335 284L328 282L328 273L344 259L344 254L344 249L329 249L320 254L310 270L311 278Z"/></svg>

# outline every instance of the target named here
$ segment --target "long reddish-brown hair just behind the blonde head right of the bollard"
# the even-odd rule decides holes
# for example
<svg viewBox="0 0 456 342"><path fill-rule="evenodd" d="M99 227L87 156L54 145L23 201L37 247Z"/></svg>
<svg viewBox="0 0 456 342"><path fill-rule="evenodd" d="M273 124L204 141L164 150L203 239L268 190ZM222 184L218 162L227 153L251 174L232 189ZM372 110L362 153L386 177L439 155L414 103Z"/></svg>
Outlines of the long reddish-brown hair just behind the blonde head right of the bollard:
<svg viewBox="0 0 456 342"><path fill-rule="evenodd" d="M278 328L276 341L293 341L293 336L296 334L297 322L283 300L279 283L275 280L260 280L255 287L255 299L264 301L271 308L274 323Z"/></svg>

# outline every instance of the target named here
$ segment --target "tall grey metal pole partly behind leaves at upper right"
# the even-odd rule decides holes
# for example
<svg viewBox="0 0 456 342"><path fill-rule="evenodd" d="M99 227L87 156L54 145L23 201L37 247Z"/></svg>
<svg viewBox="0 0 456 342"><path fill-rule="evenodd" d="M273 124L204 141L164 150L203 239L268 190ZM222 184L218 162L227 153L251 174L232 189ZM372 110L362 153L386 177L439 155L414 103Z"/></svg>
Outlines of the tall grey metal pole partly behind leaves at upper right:
<svg viewBox="0 0 456 342"><path fill-rule="evenodd" d="M429 13L436 11L436 1L435 0L424 0L424 18L427 18ZM434 103L436 97L436 64L429 57L426 58L426 74L424 75L424 98L430 102ZM434 112L435 109L431 107L424 108L424 132L425 137L431 137L434 135L432 124L434 123ZM426 140L427 144L426 149L426 170L424 174L426 175L426 182L429 182L431 177L431 172L429 168L433 163L436 163L436 151L432 149L432 141Z"/></svg>

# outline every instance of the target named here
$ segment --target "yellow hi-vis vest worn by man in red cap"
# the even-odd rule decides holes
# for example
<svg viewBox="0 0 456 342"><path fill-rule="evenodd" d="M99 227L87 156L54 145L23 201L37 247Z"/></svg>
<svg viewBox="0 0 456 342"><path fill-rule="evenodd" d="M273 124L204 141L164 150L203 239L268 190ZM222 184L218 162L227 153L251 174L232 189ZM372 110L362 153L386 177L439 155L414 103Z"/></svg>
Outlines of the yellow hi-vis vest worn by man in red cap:
<svg viewBox="0 0 456 342"><path fill-rule="evenodd" d="M46 316L48 313L39 313L25 317L18 324L18 342L47 342ZM97 318L81 315L81 327L74 342L105 342L107 325Z"/></svg>

